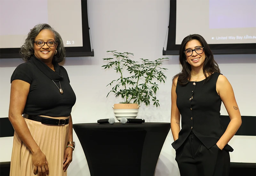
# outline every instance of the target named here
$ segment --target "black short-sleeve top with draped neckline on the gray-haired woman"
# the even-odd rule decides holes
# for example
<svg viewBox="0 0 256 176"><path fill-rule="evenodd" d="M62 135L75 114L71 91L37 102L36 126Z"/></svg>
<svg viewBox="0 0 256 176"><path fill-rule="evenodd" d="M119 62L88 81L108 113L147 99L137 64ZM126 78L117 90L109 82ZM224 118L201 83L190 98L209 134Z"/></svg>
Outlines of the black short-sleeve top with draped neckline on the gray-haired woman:
<svg viewBox="0 0 256 176"><path fill-rule="evenodd" d="M34 55L20 64L13 72L13 80L30 84L23 113L41 116L69 116L76 102L76 95L70 86L66 69L53 63L55 72ZM63 94L60 94L60 87Z"/></svg>

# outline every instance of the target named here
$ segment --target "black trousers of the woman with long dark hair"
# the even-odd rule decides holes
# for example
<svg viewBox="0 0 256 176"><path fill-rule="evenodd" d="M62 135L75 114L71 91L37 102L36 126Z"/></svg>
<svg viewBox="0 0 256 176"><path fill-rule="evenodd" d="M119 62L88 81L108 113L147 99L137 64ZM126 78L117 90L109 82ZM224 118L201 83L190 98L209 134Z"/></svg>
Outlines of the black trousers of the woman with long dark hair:
<svg viewBox="0 0 256 176"><path fill-rule="evenodd" d="M230 156L215 144L207 149L190 133L186 141L176 150L180 176L228 176Z"/></svg>

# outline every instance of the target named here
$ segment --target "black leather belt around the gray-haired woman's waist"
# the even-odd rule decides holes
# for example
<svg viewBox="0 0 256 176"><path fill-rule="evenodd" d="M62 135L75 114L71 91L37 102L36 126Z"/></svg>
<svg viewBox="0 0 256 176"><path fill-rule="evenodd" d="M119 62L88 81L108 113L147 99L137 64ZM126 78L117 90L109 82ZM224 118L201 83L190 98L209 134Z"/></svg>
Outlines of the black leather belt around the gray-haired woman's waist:
<svg viewBox="0 0 256 176"><path fill-rule="evenodd" d="M47 118L47 117L41 117L41 116L31 116L28 114L23 114L23 117L34 120L37 122L41 122L43 124L48 124L48 125L66 125L69 122L68 119L53 119L53 118Z"/></svg>

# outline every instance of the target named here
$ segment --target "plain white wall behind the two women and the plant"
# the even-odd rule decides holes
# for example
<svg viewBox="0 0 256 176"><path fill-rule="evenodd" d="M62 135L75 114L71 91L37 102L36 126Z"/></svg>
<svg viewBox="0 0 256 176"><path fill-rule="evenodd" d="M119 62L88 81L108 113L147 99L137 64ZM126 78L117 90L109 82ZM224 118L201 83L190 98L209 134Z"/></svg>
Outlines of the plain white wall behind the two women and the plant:
<svg viewBox="0 0 256 176"><path fill-rule="evenodd" d="M73 123L95 123L99 118L114 116L112 106L119 101L114 95L106 98L110 90L106 85L117 77L114 71L101 68L106 64L102 58L110 56L106 53L107 50L132 52L134 59L155 60L165 57L162 55L162 50L169 25L169 2L169 0L88 0L95 55L94 57L67 58L61 63L68 71L70 84L77 97L72 110ZM180 72L181 66L178 56L167 57L169 60L164 62L164 67L168 68L167 81L160 85L157 94L160 107L142 106L138 114L138 118L144 118L147 122L170 122L171 80L172 76ZM256 116L254 110L256 55L215 55L215 59L222 74L233 86L241 114ZM0 117L8 116L10 77L20 63L22 63L21 59L0 59ZM221 114L227 115L224 106L221 108ZM256 138L245 137L245 139L243 144L237 137L230 142L235 150L231 153L231 161L256 162L256 154L250 153L253 151L252 146L256 146ZM0 162L10 161L12 138L0 140L1 143L3 140L7 141L10 146L6 147L5 143L1 150L3 145L0 145L0 151L4 151L1 152ZM68 175L90 176L82 147L75 133L74 141L76 141L76 150L73 162L68 168ZM156 176L179 175L174 160L175 151L171 146L172 141L172 134L169 133L156 166ZM254 145L246 145L249 144L248 141Z"/></svg>

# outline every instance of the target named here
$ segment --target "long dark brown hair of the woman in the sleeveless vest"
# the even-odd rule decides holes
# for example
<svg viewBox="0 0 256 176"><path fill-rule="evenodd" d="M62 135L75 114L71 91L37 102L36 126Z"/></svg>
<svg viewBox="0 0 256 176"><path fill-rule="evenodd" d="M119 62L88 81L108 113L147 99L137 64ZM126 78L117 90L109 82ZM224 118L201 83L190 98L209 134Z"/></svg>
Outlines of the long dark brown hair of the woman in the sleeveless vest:
<svg viewBox="0 0 256 176"><path fill-rule="evenodd" d="M191 66L188 62L186 62L186 55L184 54L185 47L187 43L191 40L198 40L204 47L204 53L206 58L204 61L203 72L204 76L206 77L205 81L208 81L210 78L210 76L207 77L206 73L209 73L210 75L212 73L220 73L220 68L217 62L213 59L212 51L210 49L210 46L206 43L205 39L199 34L188 35L182 40L180 46L180 64L182 66L182 71L179 74L173 76L172 78L172 81L174 81L175 78L179 77L178 84L181 86L185 86L191 79Z"/></svg>

